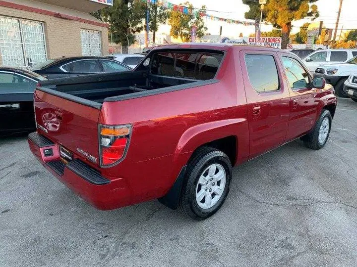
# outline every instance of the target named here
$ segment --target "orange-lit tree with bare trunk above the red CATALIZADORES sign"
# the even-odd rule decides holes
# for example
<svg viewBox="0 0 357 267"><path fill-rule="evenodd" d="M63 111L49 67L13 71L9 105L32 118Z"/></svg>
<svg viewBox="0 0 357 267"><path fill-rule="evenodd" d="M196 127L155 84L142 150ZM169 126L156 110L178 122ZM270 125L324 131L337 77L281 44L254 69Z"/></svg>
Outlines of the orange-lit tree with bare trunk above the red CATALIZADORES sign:
<svg viewBox="0 0 357 267"><path fill-rule="evenodd" d="M259 0L242 0L249 5L249 11L244 14L246 19L260 19ZM286 49L289 43L289 35L294 20L310 17L312 20L318 17L317 5L309 3L317 0L268 0L263 11L263 20L272 23L274 27L282 29L282 48Z"/></svg>

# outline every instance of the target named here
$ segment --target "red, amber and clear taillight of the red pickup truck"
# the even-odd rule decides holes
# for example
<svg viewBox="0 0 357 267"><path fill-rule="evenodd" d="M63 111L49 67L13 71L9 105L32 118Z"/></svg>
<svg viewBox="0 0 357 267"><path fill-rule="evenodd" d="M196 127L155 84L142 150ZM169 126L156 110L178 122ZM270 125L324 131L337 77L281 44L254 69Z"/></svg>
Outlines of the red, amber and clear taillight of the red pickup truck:
<svg viewBox="0 0 357 267"><path fill-rule="evenodd" d="M99 152L102 167L111 167L124 159L131 134L131 125L99 125Z"/></svg>

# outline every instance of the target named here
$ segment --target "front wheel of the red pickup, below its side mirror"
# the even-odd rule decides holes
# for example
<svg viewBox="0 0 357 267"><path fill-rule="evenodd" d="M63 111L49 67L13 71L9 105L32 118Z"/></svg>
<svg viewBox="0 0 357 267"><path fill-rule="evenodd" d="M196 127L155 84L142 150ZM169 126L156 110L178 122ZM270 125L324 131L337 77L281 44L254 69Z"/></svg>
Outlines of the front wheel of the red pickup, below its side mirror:
<svg viewBox="0 0 357 267"><path fill-rule="evenodd" d="M332 117L330 111L323 109L310 133L303 136L304 145L308 148L318 150L325 146L331 131Z"/></svg>

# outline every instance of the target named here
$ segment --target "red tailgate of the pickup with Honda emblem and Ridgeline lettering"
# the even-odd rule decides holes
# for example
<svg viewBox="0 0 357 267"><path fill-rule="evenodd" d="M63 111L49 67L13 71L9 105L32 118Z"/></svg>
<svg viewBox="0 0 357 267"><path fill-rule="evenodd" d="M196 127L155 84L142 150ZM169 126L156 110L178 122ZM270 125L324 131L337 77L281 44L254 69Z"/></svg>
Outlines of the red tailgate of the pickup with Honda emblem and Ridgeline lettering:
<svg viewBox="0 0 357 267"><path fill-rule="evenodd" d="M38 132L79 157L99 166L100 108L37 89L34 106Z"/></svg>

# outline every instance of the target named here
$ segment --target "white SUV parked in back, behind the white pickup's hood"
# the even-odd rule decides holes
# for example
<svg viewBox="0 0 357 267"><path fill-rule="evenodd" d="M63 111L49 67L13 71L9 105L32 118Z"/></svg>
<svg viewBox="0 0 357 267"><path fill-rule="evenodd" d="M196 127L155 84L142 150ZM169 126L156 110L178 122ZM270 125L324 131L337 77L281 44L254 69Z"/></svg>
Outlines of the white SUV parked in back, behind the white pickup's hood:
<svg viewBox="0 0 357 267"><path fill-rule="evenodd" d="M343 63L357 56L356 49L321 49L307 55L302 62L310 72L314 72L317 67L325 64Z"/></svg>

